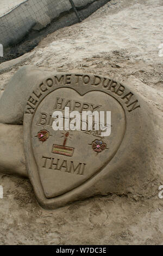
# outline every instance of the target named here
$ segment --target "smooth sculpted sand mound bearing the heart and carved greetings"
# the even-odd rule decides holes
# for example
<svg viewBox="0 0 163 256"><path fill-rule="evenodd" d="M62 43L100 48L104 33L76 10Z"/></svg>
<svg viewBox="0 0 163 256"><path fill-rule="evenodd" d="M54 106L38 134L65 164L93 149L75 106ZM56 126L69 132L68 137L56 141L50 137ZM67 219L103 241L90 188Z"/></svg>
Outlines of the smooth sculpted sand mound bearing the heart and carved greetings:
<svg viewBox="0 0 163 256"><path fill-rule="evenodd" d="M111 135L102 137L100 130L54 131L52 114L65 107L79 113L111 111ZM10 149L1 149L2 172L29 176L43 208L95 194L125 193L150 172L150 109L133 89L109 77L53 74L26 66L5 88L0 108L0 129L12 126L16 136L16 154L7 159Z"/></svg>

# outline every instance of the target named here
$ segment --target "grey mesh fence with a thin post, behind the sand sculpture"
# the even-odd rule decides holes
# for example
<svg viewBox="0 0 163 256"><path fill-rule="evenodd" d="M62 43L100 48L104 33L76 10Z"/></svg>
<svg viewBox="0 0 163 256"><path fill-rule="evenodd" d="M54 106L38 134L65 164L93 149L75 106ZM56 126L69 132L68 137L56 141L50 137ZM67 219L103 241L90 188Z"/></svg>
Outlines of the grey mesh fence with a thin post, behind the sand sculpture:
<svg viewBox="0 0 163 256"><path fill-rule="evenodd" d="M0 44L15 45L53 23L53 31L84 20L110 0L26 0L0 17ZM51 31L51 32L53 32Z"/></svg>

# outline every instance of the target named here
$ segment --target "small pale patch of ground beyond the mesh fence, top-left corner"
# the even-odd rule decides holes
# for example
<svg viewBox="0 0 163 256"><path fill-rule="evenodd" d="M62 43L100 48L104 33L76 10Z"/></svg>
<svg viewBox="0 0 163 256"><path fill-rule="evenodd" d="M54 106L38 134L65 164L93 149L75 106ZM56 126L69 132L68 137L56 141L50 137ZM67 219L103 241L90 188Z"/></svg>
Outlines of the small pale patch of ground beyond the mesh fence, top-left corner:
<svg viewBox="0 0 163 256"><path fill-rule="evenodd" d="M0 17L9 13L18 4L26 2L26 0L1 0L0 1Z"/></svg>

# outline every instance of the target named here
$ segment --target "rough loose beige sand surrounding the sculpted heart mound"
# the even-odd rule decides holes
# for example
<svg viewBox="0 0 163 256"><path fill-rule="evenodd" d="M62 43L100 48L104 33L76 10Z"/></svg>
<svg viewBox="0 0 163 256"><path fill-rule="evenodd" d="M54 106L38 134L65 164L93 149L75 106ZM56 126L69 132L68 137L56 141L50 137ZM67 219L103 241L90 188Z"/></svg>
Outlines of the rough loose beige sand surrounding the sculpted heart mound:
<svg viewBox="0 0 163 256"><path fill-rule="evenodd" d="M1 175L1 245L163 245L162 13L162 0L112 0L84 22L48 35L24 59L0 65L1 94L26 64L105 74L130 84L151 107L158 135L154 175L139 192L131 188L47 211L37 205L28 180Z"/></svg>

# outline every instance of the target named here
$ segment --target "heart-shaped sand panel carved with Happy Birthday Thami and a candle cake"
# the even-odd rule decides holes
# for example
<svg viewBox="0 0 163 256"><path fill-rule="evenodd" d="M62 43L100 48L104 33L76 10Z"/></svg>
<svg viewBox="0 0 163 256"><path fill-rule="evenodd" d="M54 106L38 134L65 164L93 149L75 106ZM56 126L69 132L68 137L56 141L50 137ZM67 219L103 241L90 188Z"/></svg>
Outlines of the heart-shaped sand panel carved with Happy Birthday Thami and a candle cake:
<svg viewBox="0 0 163 256"><path fill-rule="evenodd" d="M111 111L111 135L100 131L54 131L55 110ZM64 113L64 112L63 112ZM82 185L114 157L123 140L126 117L114 97L92 91L81 96L71 88L47 94L37 106L30 129L30 143L46 198L55 198Z"/></svg>

